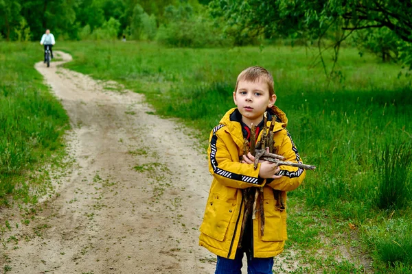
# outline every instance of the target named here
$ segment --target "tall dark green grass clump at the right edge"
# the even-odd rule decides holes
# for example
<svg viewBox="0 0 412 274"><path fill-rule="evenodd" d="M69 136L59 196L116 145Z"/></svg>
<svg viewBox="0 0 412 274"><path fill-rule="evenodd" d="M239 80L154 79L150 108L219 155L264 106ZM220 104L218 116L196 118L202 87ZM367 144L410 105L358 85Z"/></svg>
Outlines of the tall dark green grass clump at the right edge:
<svg viewBox="0 0 412 274"><path fill-rule="evenodd" d="M412 198L412 184L408 173L412 165L412 145L387 144L375 152L375 170L378 174L378 207L401 209Z"/></svg>

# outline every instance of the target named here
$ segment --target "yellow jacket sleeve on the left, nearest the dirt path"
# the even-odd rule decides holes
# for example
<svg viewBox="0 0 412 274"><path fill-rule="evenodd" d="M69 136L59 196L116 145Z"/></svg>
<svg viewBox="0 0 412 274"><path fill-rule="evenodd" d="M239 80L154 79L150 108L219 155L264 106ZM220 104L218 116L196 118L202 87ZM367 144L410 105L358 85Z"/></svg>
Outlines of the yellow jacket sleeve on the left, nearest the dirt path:
<svg viewBox="0 0 412 274"><path fill-rule="evenodd" d="M209 171L211 175L220 184L231 188L261 187L266 181L259 177L260 164L258 169L254 169L253 164L240 163L238 155L236 155L236 158L233 158L227 144L228 142L233 142L233 140L225 138L226 133L224 130L218 132L222 127L223 125L218 125L210 134L207 154L209 156Z"/></svg>

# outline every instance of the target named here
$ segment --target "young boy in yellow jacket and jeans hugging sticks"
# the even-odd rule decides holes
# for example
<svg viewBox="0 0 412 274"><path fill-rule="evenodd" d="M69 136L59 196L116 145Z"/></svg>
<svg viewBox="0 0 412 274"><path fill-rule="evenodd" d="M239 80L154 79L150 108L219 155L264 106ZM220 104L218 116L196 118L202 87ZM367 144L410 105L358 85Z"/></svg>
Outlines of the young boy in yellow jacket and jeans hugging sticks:
<svg viewBox="0 0 412 274"><path fill-rule="evenodd" d="M288 119L275 106L273 77L266 69L252 66L242 71L233 101L237 108L229 110L210 135L207 153L214 180L200 228L199 245L218 256L215 274L241 274L243 253L247 254L249 274L272 274L273 257L282 253L287 238L286 191L297 188L306 172L262 160L254 169L253 155L243 155L244 139L250 142L252 124L258 125L256 141L262 137L264 112L267 111L268 123L273 115L277 116L273 128L274 152L287 161L301 162L286 130ZM244 220L245 197L253 197L261 190L264 222L261 214L255 214L255 219L248 214Z"/></svg>

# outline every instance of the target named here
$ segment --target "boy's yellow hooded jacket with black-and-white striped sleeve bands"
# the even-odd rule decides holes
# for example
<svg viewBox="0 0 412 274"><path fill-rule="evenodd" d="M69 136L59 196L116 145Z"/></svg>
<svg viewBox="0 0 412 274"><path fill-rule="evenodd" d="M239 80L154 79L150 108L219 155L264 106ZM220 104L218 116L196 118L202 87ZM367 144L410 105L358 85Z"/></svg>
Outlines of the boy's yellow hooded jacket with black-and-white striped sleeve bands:
<svg viewBox="0 0 412 274"><path fill-rule="evenodd" d="M277 210L273 189L282 190L286 204L286 191L297 188L306 171L293 166L280 166L282 178L266 184L266 179L258 177L258 169L253 164L242 164L239 156L243 154L242 126L233 121L229 110L220 124L210 134L209 171L214 176L207 199L205 215L200 231L199 245L206 247L218 256L234 259L238 247L242 219L244 215L243 188L263 188L264 197L264 236L260 234L260 214L253 220L253 257L270 258L279 255L284 249L286 235L286 210ZM275 153L286 160L301 162L299 153L286 130L288 119L282 110L272 108L282 121L275 123L273 139ZM232 115L232 116L231 116ZM270 123L270 121L268 121ZM260 140L262 132L258 136Z"/></svg>

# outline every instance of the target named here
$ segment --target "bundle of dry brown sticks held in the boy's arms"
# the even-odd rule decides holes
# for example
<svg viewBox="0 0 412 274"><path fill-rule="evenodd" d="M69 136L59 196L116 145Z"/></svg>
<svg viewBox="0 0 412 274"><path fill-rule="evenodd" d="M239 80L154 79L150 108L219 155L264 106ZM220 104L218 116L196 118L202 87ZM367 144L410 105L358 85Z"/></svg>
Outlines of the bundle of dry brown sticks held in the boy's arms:
<svg viewBox="0 0 412 274"><path fill-rule="evenodd" d="M282 155L277 155L275 150L275 141L273 140L273 128L275 127L276 115L273 115L271 125L267 126L267 112L264 113L264 126L262 129L262 138L259 142L256 142L256 125L251 125L251 141L244 139L243 153L247 155L249 152L255 157L254 167L258 168L259 160L265 160L273 162L276 166L296 166L301 169L314 170L316 166L309 164L301 164L296 162L284 161L285 158ZM242 160L242 158L240 158ZM282 199L281 190L273 190L273 194L276 199L276 208L283 211L285 209L284 201ZM240 231L239 245L242 243L244 227L246 226L249 215L252 213L252 220L256 219L256 213L260 213L260 234L264 235L264 209L263 209L263 188L247 188L243 190L244 199L244 218L242 222L242 229ZM259 208L256 209L257 205Z"/></svg>

